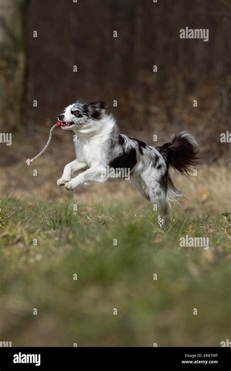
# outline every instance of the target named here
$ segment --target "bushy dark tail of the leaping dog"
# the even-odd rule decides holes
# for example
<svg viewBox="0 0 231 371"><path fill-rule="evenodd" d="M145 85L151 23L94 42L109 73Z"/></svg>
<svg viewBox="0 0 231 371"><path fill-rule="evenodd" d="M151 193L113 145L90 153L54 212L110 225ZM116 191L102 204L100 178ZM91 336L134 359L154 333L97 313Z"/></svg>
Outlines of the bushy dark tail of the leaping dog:
<svg viewBox="0 0 231 371"><path fill-rule="evenodd" d="M172 166L180 173L189 174L192 166L199 164L198 144L193 135L187 131L181 131L174 135L169 143L157 147L164 157L167 167Z"/></svg>

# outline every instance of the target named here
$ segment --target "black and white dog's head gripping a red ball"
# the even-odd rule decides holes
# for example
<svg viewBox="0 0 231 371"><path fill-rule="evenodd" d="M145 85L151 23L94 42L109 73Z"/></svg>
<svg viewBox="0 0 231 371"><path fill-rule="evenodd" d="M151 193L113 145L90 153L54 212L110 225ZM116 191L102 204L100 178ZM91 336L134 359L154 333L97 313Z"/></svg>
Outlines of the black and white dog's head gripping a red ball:
<svg viewBox="0 0 231 371"><path fill-rule="evenodd" d="M77 101L68 105L62 114L58 116L63 130L75 130L82 126L92 124L100 120L104 114L104 108L108 105L104 102L87 102Z"/></svg>

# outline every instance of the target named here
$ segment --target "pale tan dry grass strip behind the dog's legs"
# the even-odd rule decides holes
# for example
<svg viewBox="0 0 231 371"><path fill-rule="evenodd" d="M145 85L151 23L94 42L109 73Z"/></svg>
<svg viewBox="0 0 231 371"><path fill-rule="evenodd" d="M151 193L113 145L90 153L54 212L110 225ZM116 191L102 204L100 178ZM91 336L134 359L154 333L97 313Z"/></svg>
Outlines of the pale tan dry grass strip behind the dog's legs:
<svg viewBox="0 0 231 371"><path fill-rule="evenodd" d="M63 160L39 159L35 165L27 167L24 161L17 165L2 167L0 195L11 189L16 197L23 195L23 200L51 200L65 202L74 199L80 203L109 204L126 198L126 203L141 207L150 207L131 185L123 181L107 182L80 187L77 192L69 192L56 185L62 173ZM33 176L37 169L38 176ZM198 216L226 212L231 205L231 171L227 166L201 165L197 176L186 177L172 171L173 182L187 198L182 200L183 210L191 208Z"/></svg>

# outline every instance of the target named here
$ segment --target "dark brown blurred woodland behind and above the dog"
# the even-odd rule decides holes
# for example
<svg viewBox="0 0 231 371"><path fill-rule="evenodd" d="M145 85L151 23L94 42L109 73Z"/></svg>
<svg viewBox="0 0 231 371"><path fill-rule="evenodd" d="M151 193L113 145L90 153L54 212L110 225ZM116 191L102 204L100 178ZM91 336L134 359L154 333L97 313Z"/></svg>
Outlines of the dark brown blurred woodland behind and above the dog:
<svg viewBox="0 0 231 371"><path fill-rule="evenodd" d="M209 28L209 41L180 39L186 26ZM128 135L152 144L157 134L159 145L189 130L205 162L227 162L230 29L230 0L0 0L0 124L14 142L0 161L28 157L25 145L40 148L63 107L83 99L106 101Z"/></svg>

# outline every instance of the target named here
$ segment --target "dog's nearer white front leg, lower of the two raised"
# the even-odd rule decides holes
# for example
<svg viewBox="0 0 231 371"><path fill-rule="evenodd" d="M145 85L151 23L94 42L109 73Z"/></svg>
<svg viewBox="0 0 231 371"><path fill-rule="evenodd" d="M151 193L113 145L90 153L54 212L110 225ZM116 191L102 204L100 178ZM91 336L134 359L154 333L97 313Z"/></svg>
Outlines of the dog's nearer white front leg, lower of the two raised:
<svg viewBox="0 0 231 371"><path fill-rule="evenodd" d="M86 171L78 174L70 182L65 184L65 188L70 191L75 191L78 186L81 186L85 182L100 182L103 183L107 180L106 169L103 166L93 165Z"/></svg>

